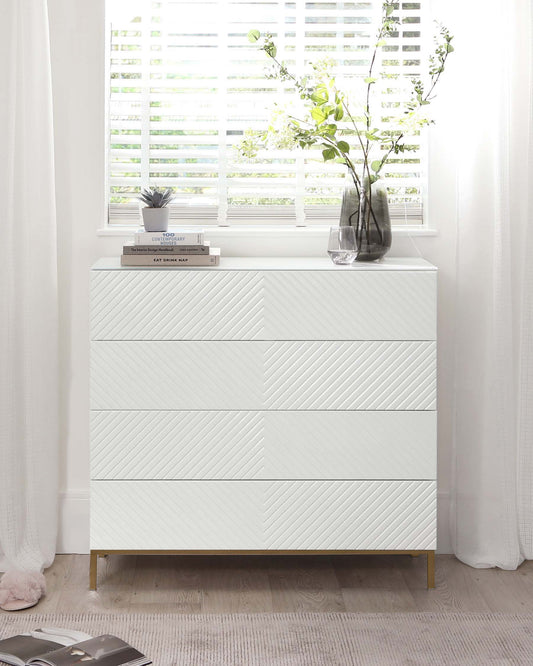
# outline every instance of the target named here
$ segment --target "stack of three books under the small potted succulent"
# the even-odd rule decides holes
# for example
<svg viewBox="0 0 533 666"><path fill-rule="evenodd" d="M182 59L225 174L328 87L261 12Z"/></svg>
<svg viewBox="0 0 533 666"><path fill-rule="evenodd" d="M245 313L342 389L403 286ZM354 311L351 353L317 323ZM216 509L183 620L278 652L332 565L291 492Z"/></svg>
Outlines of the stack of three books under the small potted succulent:
<svg viewBox="0 0 533 666"><path fill-rule="evenodd" d="M210 247L203 229L170 228L135 233L123 247L122 266L218 266L220 249Z"/></svg>

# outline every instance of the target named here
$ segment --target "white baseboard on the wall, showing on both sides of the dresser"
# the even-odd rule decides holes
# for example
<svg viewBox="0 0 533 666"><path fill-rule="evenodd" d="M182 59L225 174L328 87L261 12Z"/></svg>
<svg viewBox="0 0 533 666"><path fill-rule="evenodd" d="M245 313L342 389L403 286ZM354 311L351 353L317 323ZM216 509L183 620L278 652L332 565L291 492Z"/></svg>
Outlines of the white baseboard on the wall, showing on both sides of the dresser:
<svg viewBox="0 0 533 666"><path fill-rule="evenodd" d="M452 552L450 539L450 494L439 492L437 553ZM66 490L59 498L58 553L89 552L89 491Z"/></svg>

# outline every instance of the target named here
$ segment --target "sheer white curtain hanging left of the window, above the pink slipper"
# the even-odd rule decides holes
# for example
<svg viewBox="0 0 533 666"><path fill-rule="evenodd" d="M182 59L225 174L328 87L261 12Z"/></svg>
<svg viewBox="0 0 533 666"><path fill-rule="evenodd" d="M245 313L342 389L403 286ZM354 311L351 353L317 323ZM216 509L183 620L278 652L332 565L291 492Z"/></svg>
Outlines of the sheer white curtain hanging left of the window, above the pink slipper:
<svg viewBox="0 0 533 666"><path fill-rule="evenodd" d="M57 261L46 0L0 21L0 570L40 571L57 529Z"/></svg>

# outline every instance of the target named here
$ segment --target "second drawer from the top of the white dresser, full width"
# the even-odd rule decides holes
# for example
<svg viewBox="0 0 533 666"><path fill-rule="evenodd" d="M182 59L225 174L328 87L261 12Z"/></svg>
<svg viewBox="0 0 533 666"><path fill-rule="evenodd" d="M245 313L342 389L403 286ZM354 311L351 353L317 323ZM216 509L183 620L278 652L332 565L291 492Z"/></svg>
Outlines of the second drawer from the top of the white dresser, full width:
<svg viewBox="0 0 533 666"><path fill-rule="evenodd" d="M433 410L434 342L97 341L91 407Z"/></svg>

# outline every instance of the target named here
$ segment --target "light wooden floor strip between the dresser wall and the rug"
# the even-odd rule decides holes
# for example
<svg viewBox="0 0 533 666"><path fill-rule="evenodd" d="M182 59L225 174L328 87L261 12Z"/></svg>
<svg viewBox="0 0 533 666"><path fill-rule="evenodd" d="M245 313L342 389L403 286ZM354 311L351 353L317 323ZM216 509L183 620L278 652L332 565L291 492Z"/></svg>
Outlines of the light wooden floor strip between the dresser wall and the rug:
<svg viewBox="0 0 533 666"><path fill-rule="evenodd" d="M89 556L59 555L45 612L533 612L533 561L518 571L472 569L437 556L435 590L425 557L108 556L90 592Z"/></svg>

